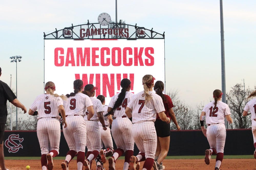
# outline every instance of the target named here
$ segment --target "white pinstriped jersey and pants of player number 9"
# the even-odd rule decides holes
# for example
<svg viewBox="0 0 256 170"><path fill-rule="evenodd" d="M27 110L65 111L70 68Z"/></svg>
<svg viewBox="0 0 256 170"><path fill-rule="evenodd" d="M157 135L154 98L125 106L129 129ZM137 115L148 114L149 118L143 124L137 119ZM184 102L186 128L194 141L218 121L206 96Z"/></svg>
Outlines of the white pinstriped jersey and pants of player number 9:
<svg viewBox="0 0 256 170"><path fill-rule="evenodd" d="M63 134L68 143L69 150L85 152L86 124L84 122L85 110L92 106L89 96L77 93L63 101L68 126L63 128Z"/></svg>

